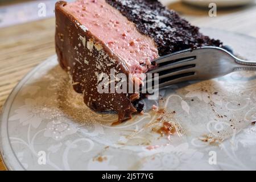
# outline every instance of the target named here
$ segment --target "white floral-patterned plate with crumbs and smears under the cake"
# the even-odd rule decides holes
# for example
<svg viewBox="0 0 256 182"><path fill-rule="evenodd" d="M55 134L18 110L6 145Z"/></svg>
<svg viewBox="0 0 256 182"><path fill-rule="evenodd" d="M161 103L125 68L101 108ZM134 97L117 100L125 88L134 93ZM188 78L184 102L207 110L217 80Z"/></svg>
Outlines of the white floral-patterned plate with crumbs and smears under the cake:
<svg viewBox="0 0 256 182"><path fill-rule="evenodd" d="M254 38L203 31L256 58ZM173 85L159 102L143 101L144 115L116 126L117 115L88 109L68 81L53 56L10 94L0 123L8 169L256 169L255 72ZM152 111L152 104L165 112ZM164 122L176 132L155 132Z"/></svg>

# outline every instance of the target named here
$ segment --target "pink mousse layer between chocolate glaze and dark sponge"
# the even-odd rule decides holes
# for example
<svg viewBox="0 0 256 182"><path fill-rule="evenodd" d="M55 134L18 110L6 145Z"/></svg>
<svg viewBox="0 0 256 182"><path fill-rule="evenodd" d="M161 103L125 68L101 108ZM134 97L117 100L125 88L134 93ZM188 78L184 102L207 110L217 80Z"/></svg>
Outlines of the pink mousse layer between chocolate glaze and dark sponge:
<svg viewBox="0 0 256 182"><path fill-rule="evenodd" d="M154 40L142 35L133 22L105 0L79 0L68 3L64 10L125 61L130 73L146 72L151 60L158 57Z"/></svg>

